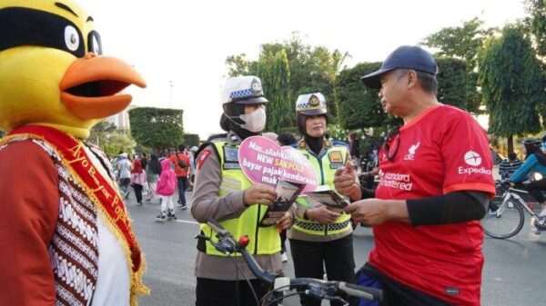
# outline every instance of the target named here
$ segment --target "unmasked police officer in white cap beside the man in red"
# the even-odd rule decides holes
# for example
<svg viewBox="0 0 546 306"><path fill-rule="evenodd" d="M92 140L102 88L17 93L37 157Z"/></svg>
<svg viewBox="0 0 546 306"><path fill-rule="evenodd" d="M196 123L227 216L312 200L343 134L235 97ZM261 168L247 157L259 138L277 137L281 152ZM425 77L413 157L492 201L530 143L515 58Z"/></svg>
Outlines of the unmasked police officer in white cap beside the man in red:
<svg viewBox="0 0 546 306"><path fill-rule="evenodd" d="M349 154L347 145L332 143L325 137L328 116L324 96L320 93L299 95L296 113L298 130L303 135L298 151L313 164L322 185L319 188L333 190L334 173L344 165ZM297 202L298 219L288 232L296 277L321 279L325 266L330 281L353 281L355 261L349 214L309 202L307 197L299 197ZM350 302L355 304L358 300ZM320 301L302 296L301 304L320 305ZM341 305L339 301L331 304Z"/></svg>

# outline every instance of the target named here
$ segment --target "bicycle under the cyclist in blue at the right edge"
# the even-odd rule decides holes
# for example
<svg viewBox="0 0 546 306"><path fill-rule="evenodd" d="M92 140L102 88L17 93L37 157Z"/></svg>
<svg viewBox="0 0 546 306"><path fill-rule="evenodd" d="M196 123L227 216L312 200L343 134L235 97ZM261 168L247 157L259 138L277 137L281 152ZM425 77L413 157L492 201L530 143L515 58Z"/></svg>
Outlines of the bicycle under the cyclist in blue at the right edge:
<svg viewBox="0 0 546 306"><path fill-rule="evenodd" d="M529 192L517 187L511 187L509 182L497 181L497 194L491 200L489 212L481 220L483 232L492 238L507 239L523 228L525 212L534 219L535 227L541 227L546 222L546 217L539 217L541 204L527 202L523 198L530 198ZM546 232L533 228L532 232L541 234Z"/></svg>

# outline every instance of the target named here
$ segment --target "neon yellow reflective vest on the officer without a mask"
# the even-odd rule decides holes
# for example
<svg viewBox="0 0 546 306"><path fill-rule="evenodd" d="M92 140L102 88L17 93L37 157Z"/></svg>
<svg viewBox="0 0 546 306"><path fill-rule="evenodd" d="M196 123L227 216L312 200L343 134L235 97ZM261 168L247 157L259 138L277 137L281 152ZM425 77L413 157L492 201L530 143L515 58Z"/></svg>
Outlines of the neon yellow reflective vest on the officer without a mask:
<svg viewBox="0 0 546 306"><path fill-rule="evenodd" d="M330 189L334 189L334 173L339 167L342 167L347 159L347 147L334 146L327 150L321 158L309 153L307 149L298 149L300 153L308 157L309 162L313 164L319 183L322 185L329 185ZM298 197L297 202L304 207L309 207L308 198L305 196ZM342 213L339 218L330 224L321 224L319 222L305 220L298 218L294 224L293 229L306 232L313 235L332 235L342 232L352 231L351 224L349 222L350 215Z"/></svg>

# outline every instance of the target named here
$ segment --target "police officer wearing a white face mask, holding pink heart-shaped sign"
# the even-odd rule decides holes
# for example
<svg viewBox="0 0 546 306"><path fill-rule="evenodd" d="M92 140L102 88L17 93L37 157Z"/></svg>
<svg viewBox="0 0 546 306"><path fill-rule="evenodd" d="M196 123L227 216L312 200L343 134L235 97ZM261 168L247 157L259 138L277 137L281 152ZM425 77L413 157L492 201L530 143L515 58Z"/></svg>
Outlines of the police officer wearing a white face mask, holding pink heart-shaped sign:
<svg viewBox="0 0 546 306"><path fill-rule="evenodd" d="M214 236L204 224L207 217L220 222L234 237L248 235L247 250L266 271L280 271L280 240L278 227L258 227L267 207L276 197L275 189L253 184L241 170L238 162L239 144L249 136L258 135L266 124L265 104L261 83L256 76L230 78L221 91L224 113L220 126L227 134L201 145L197 151L196 181L191 207L192 216L201 222L201 233ZM287 213L280 228L291 223ZM245 276L261 299L268 291L248 269L243 258L231 258L204 240L197 242L197 306L202 305L256 305Z"/></svg>

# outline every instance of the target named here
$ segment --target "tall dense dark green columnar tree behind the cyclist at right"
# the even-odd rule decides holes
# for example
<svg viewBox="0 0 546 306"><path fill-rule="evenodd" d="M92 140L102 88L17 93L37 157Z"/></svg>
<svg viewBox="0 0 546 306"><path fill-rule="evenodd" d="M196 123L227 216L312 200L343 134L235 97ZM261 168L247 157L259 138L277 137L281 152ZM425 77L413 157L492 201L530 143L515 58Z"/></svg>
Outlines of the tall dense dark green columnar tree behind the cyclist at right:
<svg viewBox="0 0 546 306"><path fill-rule="evenodd" d="M519 25L506 25L480 51L481 94L490 114L490 133L508 137L539 133L544 123L544 74Z"/></svg>

